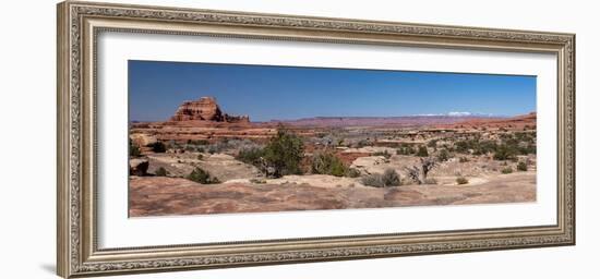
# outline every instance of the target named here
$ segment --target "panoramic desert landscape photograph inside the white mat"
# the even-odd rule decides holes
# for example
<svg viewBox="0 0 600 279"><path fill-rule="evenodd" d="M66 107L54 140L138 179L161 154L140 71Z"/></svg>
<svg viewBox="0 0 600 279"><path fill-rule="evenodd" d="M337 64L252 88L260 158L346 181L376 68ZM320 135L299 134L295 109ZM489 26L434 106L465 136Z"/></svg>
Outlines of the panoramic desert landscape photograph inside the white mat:
<svg viewBox="0 0 600 279"><path fill-rule="evenodd" d="M536 202L536 76L128 71L130 217Z"/></svg>

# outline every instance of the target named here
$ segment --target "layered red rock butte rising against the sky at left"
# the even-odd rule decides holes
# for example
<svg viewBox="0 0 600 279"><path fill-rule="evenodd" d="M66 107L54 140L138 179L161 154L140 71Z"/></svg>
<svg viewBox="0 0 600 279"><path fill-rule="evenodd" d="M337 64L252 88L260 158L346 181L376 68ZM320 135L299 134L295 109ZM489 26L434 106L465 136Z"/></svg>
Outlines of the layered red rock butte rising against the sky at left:
<svg viewBox="0 0 600 279"><path fill-rule="evenodd" d="M179 106L171 121L212 121L227 123L250 123L248 116L229 116L224 113L213 97L201 97L197 100L184 101Z"/></svg>

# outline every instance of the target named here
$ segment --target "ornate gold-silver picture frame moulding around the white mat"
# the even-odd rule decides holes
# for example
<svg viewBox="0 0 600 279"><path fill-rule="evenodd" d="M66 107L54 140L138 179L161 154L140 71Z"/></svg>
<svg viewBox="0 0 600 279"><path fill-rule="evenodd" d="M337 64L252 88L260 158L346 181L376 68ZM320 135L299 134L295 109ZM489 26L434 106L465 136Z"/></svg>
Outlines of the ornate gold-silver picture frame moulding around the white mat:
<svg viewBox="0 0 600 279"><path fill-rule="evenodd" d="M556 56L556 223L98 246L97 49L103 33ZM575 244L575 35L67 1L58 5L58 274L64 278Z"/></svg>

